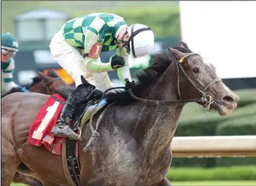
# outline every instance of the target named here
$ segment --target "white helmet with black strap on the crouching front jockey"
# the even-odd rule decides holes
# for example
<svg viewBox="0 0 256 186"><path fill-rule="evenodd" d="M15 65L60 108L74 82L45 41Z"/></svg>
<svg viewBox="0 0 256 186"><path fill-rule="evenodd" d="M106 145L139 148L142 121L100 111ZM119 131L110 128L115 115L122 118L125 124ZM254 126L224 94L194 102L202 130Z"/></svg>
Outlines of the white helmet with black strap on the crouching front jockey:
<svg viewBox="0 0 256 186"><path fill-rule="evenodd" d="M150 27L134 24L128 27L129 40L127 46L134 58L146 56L154 45L154 35Z"/></svg>

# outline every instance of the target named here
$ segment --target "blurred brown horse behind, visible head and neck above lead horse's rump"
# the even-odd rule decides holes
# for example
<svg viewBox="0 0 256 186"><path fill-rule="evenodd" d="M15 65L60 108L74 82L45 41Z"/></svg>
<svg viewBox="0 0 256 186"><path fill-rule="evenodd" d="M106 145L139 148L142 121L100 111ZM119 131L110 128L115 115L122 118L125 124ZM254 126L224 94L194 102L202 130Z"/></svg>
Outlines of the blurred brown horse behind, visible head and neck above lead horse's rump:
<svg viewBox="0 0 256 186"><path fill-rule="evenodd" d="M48 70L47 74L37 71L37 74L38 76L33 78L33 82L30 85L23 85L23 87L26 87L30 92L50 95L54 94L60 86L67 86L54 69ZM1 98L14 92L22 91L19 88L13 88L9 92L1 95Z"/></svg>

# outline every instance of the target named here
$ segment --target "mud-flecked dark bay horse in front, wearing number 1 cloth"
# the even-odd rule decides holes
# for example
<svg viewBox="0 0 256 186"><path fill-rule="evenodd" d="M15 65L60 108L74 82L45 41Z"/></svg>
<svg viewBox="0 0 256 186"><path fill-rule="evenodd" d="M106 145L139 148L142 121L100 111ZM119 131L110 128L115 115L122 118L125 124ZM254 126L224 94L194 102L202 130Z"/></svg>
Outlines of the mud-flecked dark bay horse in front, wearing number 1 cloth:
<svg viewBox="0 0 256 186"><path fill-rule="evenodd" d="M185 104L197 101L225 116L236 108L239 99L217 77L214 66L182 42L168 53L157 54L128 91L133 94L107 95L115 102L105 110L98 125L100 136L87 151L83 148L91 129L89 125L83 128L83 142L78 144L81 185L170 185L165 178L172 159L170 143ZM26 143L30 124L48 97L14 93L2 99L3 185L11 184L16 171L23 172L20 163L30 169L27 175L44 185L69 185L61 157Z"/></svg>

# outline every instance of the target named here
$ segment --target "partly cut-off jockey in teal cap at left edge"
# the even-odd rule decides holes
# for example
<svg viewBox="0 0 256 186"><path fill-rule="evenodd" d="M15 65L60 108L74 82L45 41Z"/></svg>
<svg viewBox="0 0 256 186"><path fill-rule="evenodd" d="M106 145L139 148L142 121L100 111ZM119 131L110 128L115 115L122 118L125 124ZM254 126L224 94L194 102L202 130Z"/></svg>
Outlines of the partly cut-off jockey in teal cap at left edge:
<svg viewBox="0 0 256 186"><path fill-rule="evenodd" d="M18 51L18 41L11 33L1 34L1 72L4 78L4 88L9 92L13 88L28 92L28 89L17 85L13 81L13 70L15 68L13 56Z"/></svg>

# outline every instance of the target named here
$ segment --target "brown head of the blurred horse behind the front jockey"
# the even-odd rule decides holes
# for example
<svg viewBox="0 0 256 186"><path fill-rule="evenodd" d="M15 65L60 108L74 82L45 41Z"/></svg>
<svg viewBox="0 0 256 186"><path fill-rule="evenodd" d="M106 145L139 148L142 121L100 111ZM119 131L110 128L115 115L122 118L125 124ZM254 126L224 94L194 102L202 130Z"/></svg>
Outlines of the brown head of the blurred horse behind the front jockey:
<svg viewBox="0 0 256 186"><path fill-rule="evenodd" d="M54 69L49 70L47 74L37 71L37 74L42 80L42 85L45 88L45 94L54 94L59 87L67 86L66 82L59 77Z"/></svg>

